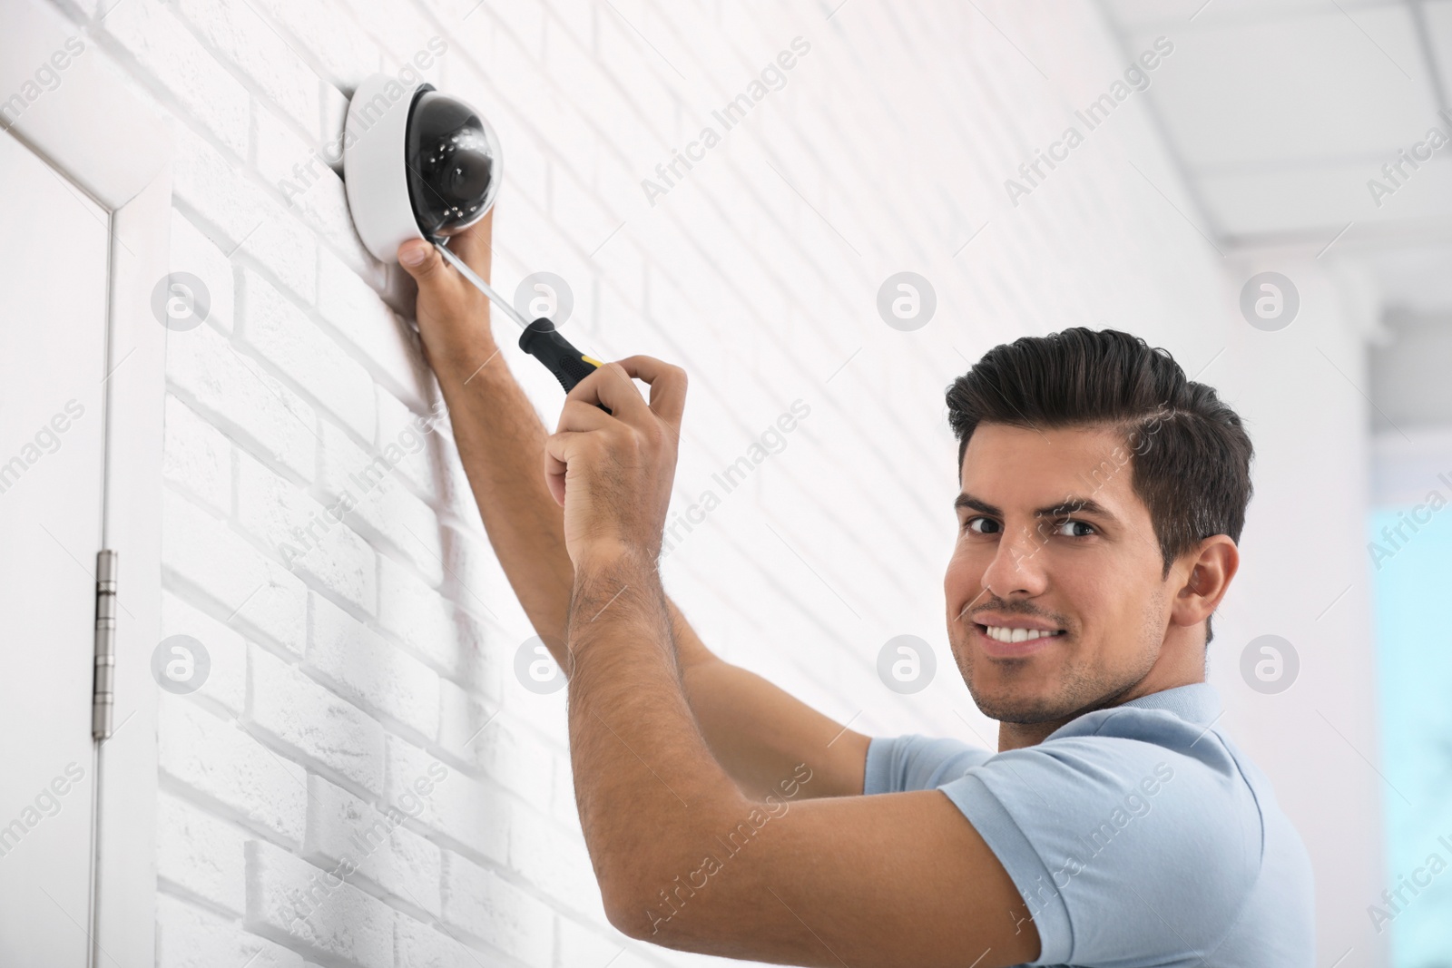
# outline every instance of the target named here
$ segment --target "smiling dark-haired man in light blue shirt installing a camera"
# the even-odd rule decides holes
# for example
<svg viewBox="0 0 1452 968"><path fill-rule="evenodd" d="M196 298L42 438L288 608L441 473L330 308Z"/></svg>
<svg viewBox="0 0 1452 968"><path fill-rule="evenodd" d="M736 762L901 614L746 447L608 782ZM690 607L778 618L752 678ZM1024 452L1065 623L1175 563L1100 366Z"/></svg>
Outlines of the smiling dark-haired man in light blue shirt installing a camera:
<svg viewBox="0 0 1452 968"><path fill-rule="evenodd" d="M484 277L489 232L452 244ZM610 363L547 434L484 298L423 242L399 257L489 540L569 676L611 924L794 965L1313 964L1305 850L1204 681L1252 447L1167 354L1070 329L948 392L948 636L995 755L855 733L713 656L656 570L685 373Z"/></svg>

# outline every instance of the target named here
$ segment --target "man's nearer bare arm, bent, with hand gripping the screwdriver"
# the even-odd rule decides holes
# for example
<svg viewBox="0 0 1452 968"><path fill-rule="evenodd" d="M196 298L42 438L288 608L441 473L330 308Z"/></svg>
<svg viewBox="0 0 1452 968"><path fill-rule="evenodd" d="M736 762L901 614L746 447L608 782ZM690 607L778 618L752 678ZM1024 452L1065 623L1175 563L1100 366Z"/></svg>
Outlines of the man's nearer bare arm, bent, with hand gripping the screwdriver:
<svg viewBox="0 0 1452 968"><path fill-rule="evenodd" d="M650 385L649 403L630 377ZM684 408L684 370L627 357L571 390L544 446L575 566L575 798L610 923L666 948L790 965L1037 959L1028 906L944 791L762 804L710 753L656 567Z"/></svg>

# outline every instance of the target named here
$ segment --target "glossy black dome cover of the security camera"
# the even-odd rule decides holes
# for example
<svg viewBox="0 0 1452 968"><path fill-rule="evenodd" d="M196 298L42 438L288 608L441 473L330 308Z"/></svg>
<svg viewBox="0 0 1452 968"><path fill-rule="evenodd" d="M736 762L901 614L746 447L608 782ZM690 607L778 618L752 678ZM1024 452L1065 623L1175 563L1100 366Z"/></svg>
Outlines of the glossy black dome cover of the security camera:
<svg viewBox="0 0 1452 968"><path fill-rule="evenodd" d="M499 190L499 142L463 102L420 89L404 136L408 200L418 231L453 235L484 218Z"/></svg>

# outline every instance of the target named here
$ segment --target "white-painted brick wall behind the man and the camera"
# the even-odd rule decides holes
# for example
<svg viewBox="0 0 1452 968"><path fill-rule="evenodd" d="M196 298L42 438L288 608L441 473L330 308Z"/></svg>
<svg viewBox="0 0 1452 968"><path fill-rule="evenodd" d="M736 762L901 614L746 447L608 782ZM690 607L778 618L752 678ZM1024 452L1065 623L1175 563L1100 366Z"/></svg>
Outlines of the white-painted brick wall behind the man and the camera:
<svg viewBox="0 0 1452 968"><path fill-rule="evenodd" d="M707 961L605 923L563 694L514 681L531 630L447 422L357 483L439 399L317 161L366 74L446 41L425 77L504 144L498 287L558 273L584 348L688 367L674 511L810 408L666 582L725 657L871 733L960 733L963 713L989 734L942 634L945 385L1021 334L1208 344L1224 325L1218 257L1175 210L1194 209L1141 103L1008 203L1003 179L1133 55L1089 3L57 3L171 122L171 261L211 296L167 350L164 634L200 640L212 672L161 697L160 965ZM642 179L797 36L786 87L649 205ZM937 289L916 332L876 312L900 270ZM553 425L558 387L495 321ZM346 492L362 501L333 521ZM916 697L876 681L900 633L938 646Z"/></svg>

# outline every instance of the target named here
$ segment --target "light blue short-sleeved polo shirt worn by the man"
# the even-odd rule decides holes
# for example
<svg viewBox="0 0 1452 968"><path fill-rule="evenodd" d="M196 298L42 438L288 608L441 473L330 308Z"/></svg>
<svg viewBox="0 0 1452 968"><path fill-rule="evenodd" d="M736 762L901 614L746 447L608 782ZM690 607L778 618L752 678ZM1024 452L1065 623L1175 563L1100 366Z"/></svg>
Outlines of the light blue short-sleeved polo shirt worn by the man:
<svg viewBox="0 0 1452 968"><path fill-rule="evenodd" d="M941 789L1028 904L1032 965L1313 968L1311 862L1205 682L1025 749L874 737L864 794Z"/></svg>

